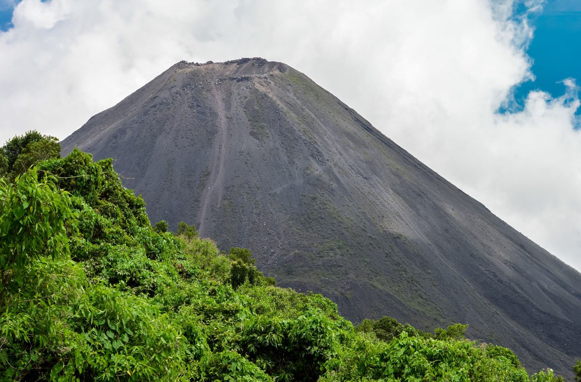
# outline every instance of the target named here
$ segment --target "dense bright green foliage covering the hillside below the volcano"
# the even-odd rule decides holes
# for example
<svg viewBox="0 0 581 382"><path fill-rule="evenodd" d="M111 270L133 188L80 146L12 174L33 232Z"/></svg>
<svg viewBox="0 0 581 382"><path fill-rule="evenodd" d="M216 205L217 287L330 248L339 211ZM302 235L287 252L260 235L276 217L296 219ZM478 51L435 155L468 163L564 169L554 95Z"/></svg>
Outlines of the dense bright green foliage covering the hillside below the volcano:
<svg viewBox="0 0 581 382"><path fill-rule="evenodd" d="M152 227L112 161L74 150L15 168L30 159L24 143L0 150L12 155L0 180L2 381L529 381L514 353L464 339L465 325L354 328L321 295L275 286L249 250L221 253L185 223Z"/></svg>

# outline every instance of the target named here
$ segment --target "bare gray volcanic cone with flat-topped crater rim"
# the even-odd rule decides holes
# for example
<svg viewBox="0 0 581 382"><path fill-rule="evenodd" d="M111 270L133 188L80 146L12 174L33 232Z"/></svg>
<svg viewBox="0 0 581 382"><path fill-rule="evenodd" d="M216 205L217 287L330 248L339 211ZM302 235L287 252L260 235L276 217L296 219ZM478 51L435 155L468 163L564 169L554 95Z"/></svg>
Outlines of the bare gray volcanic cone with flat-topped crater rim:
<svg viewBox="0 0 581 382"><path fill-rule="evenodd" d="M150 219L249 248L347 318L469 323L571 375L581 275L282 63L175 64L62 142L113 157Z"/></svg>

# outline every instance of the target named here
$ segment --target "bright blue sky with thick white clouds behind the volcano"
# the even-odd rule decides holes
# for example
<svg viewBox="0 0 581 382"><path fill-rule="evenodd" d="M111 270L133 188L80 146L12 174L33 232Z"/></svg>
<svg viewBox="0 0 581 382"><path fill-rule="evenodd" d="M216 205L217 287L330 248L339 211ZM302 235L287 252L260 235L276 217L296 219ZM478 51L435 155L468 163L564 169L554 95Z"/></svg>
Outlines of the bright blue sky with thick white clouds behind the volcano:
<svg viewBox="0 0 581 382"><path fill-rule="evenodd" d="M0 142L180 60L282 61L581 270L578 0L0 0Z"/></svg>

